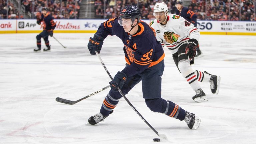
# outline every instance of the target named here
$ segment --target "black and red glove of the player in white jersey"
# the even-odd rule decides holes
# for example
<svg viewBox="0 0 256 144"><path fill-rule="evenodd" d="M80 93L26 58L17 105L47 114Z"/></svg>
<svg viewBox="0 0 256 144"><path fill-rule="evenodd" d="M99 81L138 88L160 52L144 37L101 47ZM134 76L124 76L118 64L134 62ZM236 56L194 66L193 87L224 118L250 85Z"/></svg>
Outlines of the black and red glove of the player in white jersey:
<svg viewBox="0 0 256 144"><path fill-rule="evenodd" d="M185 49L185 54L189 58L193 59L196 55L196 47L198 46L198 41L196 39L190 39Z"/></svg>

